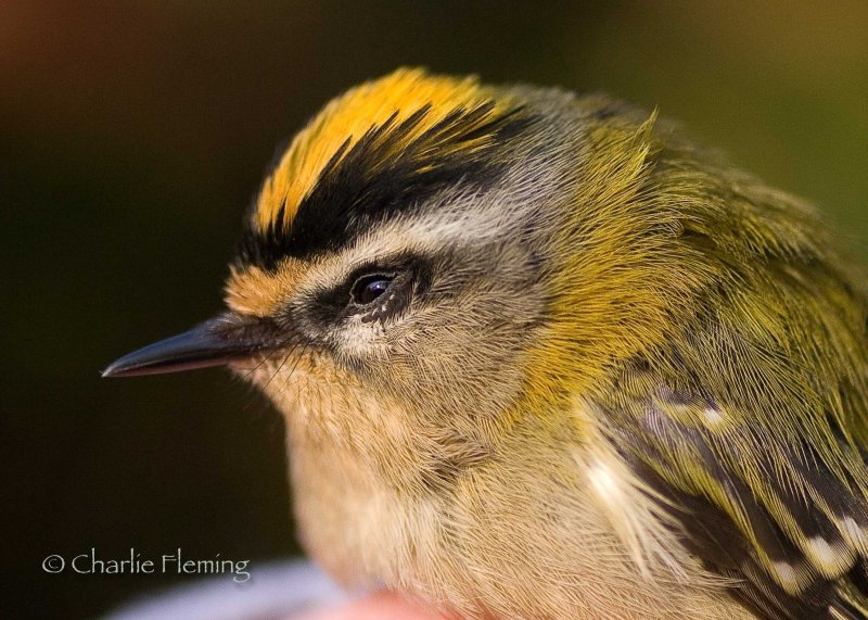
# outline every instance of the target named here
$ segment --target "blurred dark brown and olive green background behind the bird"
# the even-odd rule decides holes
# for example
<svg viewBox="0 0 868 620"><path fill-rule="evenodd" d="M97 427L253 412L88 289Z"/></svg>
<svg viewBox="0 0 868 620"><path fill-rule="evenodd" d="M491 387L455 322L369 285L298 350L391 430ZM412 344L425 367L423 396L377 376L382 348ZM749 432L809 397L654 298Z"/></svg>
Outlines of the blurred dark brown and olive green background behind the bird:
<svg viewBox="0 0 868 620"><path fill-rule="evenodd" d="M812 199L868 257L866 33L861 0L0 3L0 616L180 579L50 575L49 554L295 553L261 398L221 370L98 370L220 307L267 162L327 99L401 64L605 90Z"/></svg>

